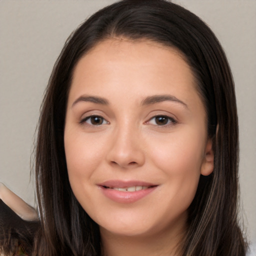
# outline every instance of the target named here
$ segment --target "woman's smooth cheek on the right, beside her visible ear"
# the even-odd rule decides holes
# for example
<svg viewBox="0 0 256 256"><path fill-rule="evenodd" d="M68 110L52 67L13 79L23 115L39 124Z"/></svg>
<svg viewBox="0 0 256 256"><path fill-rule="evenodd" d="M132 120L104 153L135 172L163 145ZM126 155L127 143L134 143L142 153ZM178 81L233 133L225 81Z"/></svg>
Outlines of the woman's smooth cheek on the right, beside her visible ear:
<svg viewBox="0 0 256 256"><path fill-rule="evenodd" d="M153 164L164 173L173 198L190 204L200 177L204 138L199 132L180 132L179 135L165 135L153 144L156 146L150 148L148 154L151 154Z"/></svg>

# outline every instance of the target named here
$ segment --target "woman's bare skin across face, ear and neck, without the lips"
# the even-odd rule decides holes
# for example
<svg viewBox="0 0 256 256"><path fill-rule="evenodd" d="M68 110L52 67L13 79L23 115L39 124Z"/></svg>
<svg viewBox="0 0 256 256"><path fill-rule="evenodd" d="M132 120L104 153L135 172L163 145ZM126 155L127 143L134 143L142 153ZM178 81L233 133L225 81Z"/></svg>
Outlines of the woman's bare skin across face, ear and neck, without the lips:
<svg viewBox="0 0 256 256"><path fill-rule="evenodd" d="M172 100L145 102L155 95ZM108 104L81 96L102 97ZM101 116L101 124L93 125L91 115ZM159 124L155 115L167 123ZM74 69L64 146L71 188L98 223L105 255L179 255L187 208L214 158L205 109L180 53L125 38L94 46ZM119 203L97 185L109 179L157 187L135 202Z"/></svg>

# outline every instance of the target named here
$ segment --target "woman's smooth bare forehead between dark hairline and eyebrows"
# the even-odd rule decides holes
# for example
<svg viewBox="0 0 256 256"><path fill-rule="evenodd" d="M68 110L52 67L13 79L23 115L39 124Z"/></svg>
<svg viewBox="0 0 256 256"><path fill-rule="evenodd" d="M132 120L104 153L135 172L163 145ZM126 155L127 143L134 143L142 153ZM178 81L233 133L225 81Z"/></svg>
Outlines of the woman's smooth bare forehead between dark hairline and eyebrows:
<svg viewBox="0 0 256 256"><path fill-rule="evenodd" d="M79 93L113 96L113 91L125 97L172 91L184 100L198 96L194 75L178 50L123 38L101 41L81 57L74 68L69 98Z"/></svg>

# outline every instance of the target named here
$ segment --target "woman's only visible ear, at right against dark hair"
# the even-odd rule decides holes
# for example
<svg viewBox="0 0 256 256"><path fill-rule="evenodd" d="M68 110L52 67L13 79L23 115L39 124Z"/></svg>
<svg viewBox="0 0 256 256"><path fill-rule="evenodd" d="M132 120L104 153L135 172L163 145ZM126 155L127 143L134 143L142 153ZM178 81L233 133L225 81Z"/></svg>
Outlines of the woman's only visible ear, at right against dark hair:
<svg viewBox="0 0 256 256"><path fill-rule="evenodd" d="M205 146L205 150L204 150L204 156L202 159L200 173L204 176L207 176L213 171L213 167L214 167L214 152L212 149L212 139L208 138Z"/></svg>

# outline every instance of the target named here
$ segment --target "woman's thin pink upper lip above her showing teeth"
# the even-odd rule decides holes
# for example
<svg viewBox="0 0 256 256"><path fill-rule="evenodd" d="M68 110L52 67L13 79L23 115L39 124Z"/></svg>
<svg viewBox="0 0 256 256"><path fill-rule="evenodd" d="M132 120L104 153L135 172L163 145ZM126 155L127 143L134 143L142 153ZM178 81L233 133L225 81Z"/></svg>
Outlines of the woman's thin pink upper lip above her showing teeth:
<svg viewBox="0 0 256 256"><path fill-rule="evenodd" d="M105 186L105 187L131 187L131 186L157 186L158 184L145 182L141 180L118 180L118 179L112 179L112 180L106 180L102 183L98 183L99 186Z"/></svg>

